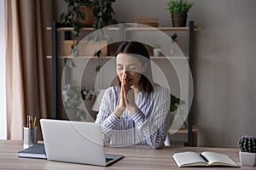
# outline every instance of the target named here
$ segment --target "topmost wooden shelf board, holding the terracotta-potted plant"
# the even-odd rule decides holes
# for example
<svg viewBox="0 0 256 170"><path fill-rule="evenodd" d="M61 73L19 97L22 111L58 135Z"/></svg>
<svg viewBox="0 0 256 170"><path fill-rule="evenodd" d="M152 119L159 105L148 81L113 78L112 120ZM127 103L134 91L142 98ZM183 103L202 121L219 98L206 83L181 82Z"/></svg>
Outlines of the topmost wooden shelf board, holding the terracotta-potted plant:
<svg viewBox="0 0 256 170"><path fill-rule="evenodd" d="M46 27L46 30L51 30L51 27ZM57 31L72 31L73 27L61 27ZM118 31L118 27L108 27L109 31ZM125 31L189 31L189 27L130 27L125 28ZM96 31L92 27L83 27L81 31ZM195 27L194 31L201 31L201 27Z"/></svg>

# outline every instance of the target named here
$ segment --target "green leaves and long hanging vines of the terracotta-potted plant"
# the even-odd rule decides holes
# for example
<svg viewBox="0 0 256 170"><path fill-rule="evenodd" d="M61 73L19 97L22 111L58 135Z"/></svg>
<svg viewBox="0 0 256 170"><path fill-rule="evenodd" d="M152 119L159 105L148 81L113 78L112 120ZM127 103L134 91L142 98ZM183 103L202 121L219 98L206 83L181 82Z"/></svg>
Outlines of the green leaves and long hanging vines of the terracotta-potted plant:
<svg viewBox="0 0 256 170"><path fill-rule="evenodd" d="M90 11L94 17L92 27L97 30L117 23L117 21L113 19L114 11L112 8L112 3L114 3L115 0L65 0L65 2L67 3L67 12L60 15L60 20L62 24L73 26L71 53L74 58L76 58L79 56L79 49L75 49L75 47L79 43L77 40L79 38L80 28L82 26L89 26L88 24L84 25L81 23L81 20L87 20L86 18L90 15L88 15L88 12L84 13L81 8L92 8ZM96 35L96 37L90 37L89 41L93 40L94 42L99 42L101 38L97 36L98 35ZM105 35L105 37L108 37L108 35ZM98 58L101 57L102 51L96 52L95 55ZM73 62L73 59L69 59L68 62ZM96 71L99 71L101 66L102 65L98 65Z"/></svg>

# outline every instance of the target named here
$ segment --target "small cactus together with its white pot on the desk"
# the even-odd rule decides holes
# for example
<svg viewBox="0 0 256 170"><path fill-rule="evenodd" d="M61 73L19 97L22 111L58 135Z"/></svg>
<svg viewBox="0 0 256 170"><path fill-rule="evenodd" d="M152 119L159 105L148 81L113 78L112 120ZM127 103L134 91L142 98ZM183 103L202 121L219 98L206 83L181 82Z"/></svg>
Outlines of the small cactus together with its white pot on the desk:
<svg viewBox="0 0 256 170"><path fill-rule="evenodd" d="M241 165L253 167L256 165L256 139L253 136L241 136L239 139L239 158Z"/></svg>

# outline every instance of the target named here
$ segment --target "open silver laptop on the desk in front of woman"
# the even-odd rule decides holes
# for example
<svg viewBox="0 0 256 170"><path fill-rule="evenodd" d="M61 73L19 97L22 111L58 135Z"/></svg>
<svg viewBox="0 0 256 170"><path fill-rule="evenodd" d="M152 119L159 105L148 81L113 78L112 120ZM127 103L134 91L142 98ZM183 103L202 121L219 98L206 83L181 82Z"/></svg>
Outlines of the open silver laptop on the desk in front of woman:
<svg viewBox="0 0 256 170"><path fill-rule="evenodd" d="M95 122L41 119L48 160L108 166L123 158L105 154L102 127Z"/></svg>

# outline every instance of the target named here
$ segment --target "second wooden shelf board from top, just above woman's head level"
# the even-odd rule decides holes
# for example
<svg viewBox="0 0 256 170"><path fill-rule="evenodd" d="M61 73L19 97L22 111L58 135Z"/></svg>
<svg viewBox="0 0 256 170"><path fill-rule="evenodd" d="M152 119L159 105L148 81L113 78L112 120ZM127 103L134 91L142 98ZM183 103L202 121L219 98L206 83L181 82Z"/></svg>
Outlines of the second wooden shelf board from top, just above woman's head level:
<svg viewBox="0 0 256 170"><path fill-rule="evenodd" d="M51 59L51 55L47 55L46 59ZM67 58L73 58L72 56L64 56L60 55L59 58L61 59L67 59ZM101 59L113 59L114 56L102 56ZM79 56L78 59L98 59L95 56ZM150 59L189 59L188 56L150 56Z"/></svg>

